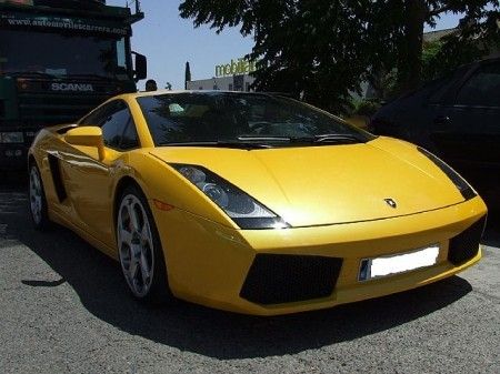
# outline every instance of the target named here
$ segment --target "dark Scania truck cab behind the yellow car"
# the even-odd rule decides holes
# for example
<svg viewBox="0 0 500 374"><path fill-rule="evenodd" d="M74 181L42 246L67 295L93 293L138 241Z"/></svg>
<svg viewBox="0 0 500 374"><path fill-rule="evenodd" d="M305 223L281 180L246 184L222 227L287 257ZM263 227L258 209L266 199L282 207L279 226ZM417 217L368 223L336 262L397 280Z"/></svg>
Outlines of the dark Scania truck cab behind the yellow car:
<svg viewBox="0 0 500 374"><path fill-rule="evenodd" d="M136 9L89 0L0 0L0 170L20 170L37 131L77 121L112 95L134 92Z"/></svg>

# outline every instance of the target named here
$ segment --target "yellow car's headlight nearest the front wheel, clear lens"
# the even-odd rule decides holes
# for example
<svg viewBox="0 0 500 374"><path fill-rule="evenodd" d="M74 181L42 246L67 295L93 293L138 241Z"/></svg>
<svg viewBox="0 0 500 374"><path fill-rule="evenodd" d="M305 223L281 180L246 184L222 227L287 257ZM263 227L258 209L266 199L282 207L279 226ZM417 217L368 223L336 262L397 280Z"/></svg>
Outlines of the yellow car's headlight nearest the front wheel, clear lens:
<svg viewBox="0 0 500 374"><path fill-rule="evenodd" d="M170 165L219 205L241 229L289 228L276 213L211 171L198 165Z"/></svg>

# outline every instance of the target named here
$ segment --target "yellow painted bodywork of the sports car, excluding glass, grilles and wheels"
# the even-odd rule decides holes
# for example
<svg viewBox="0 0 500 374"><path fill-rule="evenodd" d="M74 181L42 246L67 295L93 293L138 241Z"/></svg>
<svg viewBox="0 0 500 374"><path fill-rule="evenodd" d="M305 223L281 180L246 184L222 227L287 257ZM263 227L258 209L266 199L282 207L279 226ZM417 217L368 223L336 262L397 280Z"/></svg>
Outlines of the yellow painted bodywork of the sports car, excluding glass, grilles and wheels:
<svg viewBox="0 0 500 374"><path fill-rule="evenodd" d="M416 146L377 138L368 143L264 150L196 146L154 148L136 93L121 95L133 117L140 148L128 152L76 146L42 130L30 149L40 169L51 220L74 230L117 259L116 204L123 181L137 183L158 226L168 281L181 299L241 313L274 315L329 307L387 295L451 276L460 265L448 261L450 239L487 213L480 196L464 201L454 184ZM51 156L61 161L67 198L61 201ZM207 168L279 214L281 230L241 230L172 164ZM383 168L380 168L383 165ZM398 202L388 206L383 199ZM153 201L173 209L164 211ZM429 267L360 282L360 261L406 253L438 243ZM328 297L259 304L241 289L257 254L343 259Z"/></svg>

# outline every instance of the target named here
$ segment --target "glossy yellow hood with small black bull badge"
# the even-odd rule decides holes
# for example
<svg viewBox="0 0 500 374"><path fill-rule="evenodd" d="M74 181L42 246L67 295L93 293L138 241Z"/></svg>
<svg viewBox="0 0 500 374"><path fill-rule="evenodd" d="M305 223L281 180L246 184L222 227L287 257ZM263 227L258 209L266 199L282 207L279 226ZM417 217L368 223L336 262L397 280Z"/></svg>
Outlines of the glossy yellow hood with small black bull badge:
<svg viewBox="0 0 500 374"><path fill-rule="evenodd" d="M150 153L168 163L209 169L292 226L380 220L463 201L452 182L414 145L382 137L346 145L166 146Z"/></svg>

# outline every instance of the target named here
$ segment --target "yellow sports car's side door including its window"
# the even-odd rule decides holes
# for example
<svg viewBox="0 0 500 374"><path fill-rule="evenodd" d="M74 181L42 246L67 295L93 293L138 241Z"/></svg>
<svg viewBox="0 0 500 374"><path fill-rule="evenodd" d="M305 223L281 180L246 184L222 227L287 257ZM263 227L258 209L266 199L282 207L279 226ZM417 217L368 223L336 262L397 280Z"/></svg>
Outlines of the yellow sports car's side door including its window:
<svg viewBox="0 0 500 374"><path fill-rule="evenodd" d="M96 148L74 146L63 168L71 183L69 198L78 224L99 241L112 246L113 175L123 152L139 146L136 124L127 103L111 101L80 121L80 125L102 129L106 158L99 160Z"/></svg>

